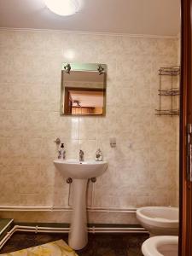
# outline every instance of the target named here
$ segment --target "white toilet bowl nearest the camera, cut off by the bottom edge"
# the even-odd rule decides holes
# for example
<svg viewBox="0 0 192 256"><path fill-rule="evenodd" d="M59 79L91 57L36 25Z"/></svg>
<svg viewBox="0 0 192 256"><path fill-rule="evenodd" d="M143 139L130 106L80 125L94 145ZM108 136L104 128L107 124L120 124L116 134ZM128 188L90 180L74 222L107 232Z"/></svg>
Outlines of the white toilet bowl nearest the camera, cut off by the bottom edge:
<svg viewBox="0 0 192 256"><path fill-rule="evenodd" d="M178 236L154 236L143 242L144 256L177 256Z"/></svg>

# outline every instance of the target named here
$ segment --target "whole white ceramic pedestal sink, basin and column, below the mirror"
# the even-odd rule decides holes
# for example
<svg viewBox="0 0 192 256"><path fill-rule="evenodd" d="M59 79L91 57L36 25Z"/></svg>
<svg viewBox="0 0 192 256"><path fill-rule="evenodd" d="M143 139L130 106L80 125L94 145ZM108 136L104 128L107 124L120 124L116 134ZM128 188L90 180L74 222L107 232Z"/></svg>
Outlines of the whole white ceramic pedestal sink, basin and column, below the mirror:
<svg viewBox="0 0 192 256"><path fill-rule="evenodd" d="M106 161L54 160L62 177L73 178L73 214L68 244L75 250L82 249L88 241L86 217L86 189L88 179L98 177L106 171Z"/></svg>

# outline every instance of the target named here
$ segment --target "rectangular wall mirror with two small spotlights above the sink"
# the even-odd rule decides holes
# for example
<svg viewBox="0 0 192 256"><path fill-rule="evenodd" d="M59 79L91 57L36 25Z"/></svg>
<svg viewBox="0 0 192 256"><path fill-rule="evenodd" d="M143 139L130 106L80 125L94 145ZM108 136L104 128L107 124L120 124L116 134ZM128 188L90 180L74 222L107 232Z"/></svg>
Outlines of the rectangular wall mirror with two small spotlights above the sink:
<svg viewBox="0 0 192 256"><path fill-rule="evenodd" d="M61 114L105 115L107 65L63 63Z"/></svg>

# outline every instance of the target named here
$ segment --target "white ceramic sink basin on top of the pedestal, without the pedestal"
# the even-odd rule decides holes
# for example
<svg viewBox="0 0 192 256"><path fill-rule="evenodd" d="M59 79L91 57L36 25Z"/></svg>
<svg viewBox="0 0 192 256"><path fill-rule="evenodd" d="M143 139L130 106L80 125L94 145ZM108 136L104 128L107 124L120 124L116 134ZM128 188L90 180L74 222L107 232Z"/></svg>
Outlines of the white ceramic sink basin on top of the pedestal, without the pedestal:
<svg viewBox="0 0 192 256"><path fill-rule="evenodd" d="M79 162L78 160L71 159L54 160L54 165L63 177L88 179L102 175L106 171L108 163L106 161L95 160Z"/></svg>

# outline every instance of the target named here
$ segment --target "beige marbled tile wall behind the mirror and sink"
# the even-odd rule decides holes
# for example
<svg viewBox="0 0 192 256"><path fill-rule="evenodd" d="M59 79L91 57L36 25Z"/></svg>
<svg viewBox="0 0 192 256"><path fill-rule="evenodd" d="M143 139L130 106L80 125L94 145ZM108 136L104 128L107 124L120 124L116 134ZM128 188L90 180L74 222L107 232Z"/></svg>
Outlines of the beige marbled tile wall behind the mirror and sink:
<svg viewBox="0 0 192 256"><path fill-rule="evenodd" d="M108 65L106 117L60 116L64 61ZM68 184L53 166L56 137L65 143L67 158L78 158L82 148L85 159L93 159L101 148L108 160L108 172L96 182L94 207L174 205L177 122L155 116L154 108L158 69L175 64L177 39L1 30L0 205L67 206ZM116 148L109 137L116 137ZM0 217L64 222L70 215L42 214ZM128 213L93 212L90 220L133 222Z"/></svg>

